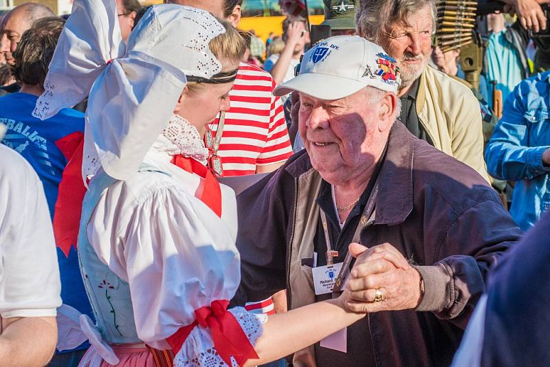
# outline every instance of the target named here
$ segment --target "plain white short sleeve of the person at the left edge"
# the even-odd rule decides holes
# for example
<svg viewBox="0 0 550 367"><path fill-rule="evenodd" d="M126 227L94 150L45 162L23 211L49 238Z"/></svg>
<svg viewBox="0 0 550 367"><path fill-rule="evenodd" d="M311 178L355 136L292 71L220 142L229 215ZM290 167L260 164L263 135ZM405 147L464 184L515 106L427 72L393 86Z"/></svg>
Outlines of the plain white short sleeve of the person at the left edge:
<svg viewBox="0 0 550 367"><path fill-rule="evenodd" d="M55 316L61 281L42 183L22 157L8 154L0 167L0 315Z"/></svg>

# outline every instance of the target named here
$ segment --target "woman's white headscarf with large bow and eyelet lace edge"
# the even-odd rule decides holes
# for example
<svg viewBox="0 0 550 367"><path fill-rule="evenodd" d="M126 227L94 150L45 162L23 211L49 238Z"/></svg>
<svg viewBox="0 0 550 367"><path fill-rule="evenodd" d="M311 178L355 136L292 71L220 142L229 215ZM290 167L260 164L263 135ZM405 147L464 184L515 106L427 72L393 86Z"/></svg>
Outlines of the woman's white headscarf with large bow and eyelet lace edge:
<svg viewBox="0 0 550 367"><path fill-rule="evenodd" d="M137 172L170 120L188 76L221 71L208 43L225 32L210 13L153 6L120 36L114 0L74 0L33 115L45 120L89 95L83 176Z"/></svg>

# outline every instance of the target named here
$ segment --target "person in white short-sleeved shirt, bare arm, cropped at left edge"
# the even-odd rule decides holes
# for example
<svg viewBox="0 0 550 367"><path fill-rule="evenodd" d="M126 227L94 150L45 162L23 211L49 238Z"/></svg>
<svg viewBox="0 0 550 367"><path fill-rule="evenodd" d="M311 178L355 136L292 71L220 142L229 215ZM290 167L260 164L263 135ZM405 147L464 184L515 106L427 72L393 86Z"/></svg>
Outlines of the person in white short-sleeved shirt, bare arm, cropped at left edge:
<svg viewBox="0 0 550 367"><path fill-rule="evenodd" d="M30 164L3 145L0 157L0 364L44 366L61 306L52 221Z"/></svg>

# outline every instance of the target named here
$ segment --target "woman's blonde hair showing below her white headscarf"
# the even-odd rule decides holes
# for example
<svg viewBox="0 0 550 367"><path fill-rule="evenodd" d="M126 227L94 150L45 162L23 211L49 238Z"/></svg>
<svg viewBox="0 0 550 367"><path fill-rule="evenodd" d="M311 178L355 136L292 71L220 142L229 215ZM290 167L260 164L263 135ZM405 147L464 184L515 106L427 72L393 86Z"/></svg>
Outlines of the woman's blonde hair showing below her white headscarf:
<svg viewBox="0 0 550 367"><path fill-rule="evenodd" d="M236 69L246 51L246 42L243 36L239 34L231 23L217 19L225 28L225 33L212 38L208 44L210 51L221 63L221 71L231 71ZM206 82L188 82L187 87L190 91L197 91L201 85Z"/></svg>

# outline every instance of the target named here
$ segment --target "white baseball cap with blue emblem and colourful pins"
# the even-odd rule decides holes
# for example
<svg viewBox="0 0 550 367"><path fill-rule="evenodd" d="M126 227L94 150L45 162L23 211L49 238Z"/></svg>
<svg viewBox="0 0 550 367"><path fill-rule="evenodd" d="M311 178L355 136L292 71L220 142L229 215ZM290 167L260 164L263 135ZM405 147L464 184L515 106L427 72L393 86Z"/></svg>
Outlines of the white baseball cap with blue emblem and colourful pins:
<svg viewBox="0 0 550 367"><path fill-rule="evenodd" d="M397 94L399 67L384 49L360 36L335 36L312 47L300 74L275 88L275 96L299 91L321 100L338 100L375 87Z"/></svg>

